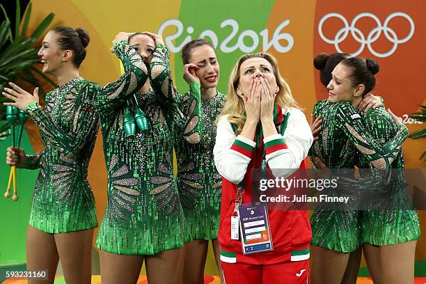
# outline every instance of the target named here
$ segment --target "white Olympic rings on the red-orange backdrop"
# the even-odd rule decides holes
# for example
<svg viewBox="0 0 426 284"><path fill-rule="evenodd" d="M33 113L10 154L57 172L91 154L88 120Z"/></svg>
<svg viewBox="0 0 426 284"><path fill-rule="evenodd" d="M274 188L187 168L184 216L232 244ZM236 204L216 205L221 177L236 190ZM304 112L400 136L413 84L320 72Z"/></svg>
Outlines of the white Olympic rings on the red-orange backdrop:
<svg viewBox="0 0 426 284"><path fill-rule="evenodd" d="M345 27L340 29L336 33L336 36L334 36L333 39L326 38L326 36L324 36L324 33L322 33L322 25L324 24L324 22L326 22L327 19L329 19L331 17L337 17L338 19L342 20L343 24L345 24ZM377 27L375 27L374 29L372 29L372 31L370 31L370 33L368 33L367 38L365 38L363 32L360 29L356 28L356 26L355 26L356 22L358 22L358 19L361 19L363 17L370 17L370 18L374 19L374 21L377 24ZM409 22L410 31L409 31L408 36L406 36L405 38L402 38L402 39L398 38L395 31L393 31L393 29L390 29L388 27L388 23L394 17L404 17ZM349 35L349 31L351 32L352 38L354 38L354 40L356 40L357 42L361 43L361 46L359 47L359 49L356 52L351 54L352 56L358 56L359 54L361 54L361 52L363 52L363 50L365 48L365 45L367 45L368 50L370 50L370 52L374 56L388 57L395 52L395 50L397 49L397 46L400 43L404 43L404 42L409 41L410 38L413 36L414 22L413 22L413 19L411 19L411 17L409 15L407 15L406 13L402 13L402 12L396 12L396 13L392 13L392 14L388 15L388 17L386 17L386 19L384 21L383 26L381 25L379 18L376 17L376 15L374 15L372 13L361 13L361 14L357 15L352 20L352 23L351 23L350 26L349 26L349 23L347 22L347 19L345 17L343 17L342 15L340 15L339 13L329 13L329 14L325 15L324 17L322 17L322 19L319 20L319 24L318 24L319 36L322 38L322 40L324 40L324 42L327 42L331 45L334 45L334 47L336 47L337 52L342 52L342 49L340 49L339 44L347 38L347 36ZM375 42L379 38L379 36L381 36L381 32L383 32L384 36L390 42L393 43L393 47L388 52L385 52L385 53L376 52L371 46L372 43Z"/></svg>

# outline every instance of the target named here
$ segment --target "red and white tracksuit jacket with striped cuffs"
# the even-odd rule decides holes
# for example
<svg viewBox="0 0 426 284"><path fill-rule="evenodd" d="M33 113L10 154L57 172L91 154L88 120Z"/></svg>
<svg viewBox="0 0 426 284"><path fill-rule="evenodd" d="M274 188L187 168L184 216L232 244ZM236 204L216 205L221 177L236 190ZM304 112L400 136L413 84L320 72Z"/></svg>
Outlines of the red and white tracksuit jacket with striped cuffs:
<svg viewBox="0 0 426 284"><path fill-rule="evenodd" d="M223 177L218 236L223 262L268 265L309 258L312 234L306 210L268 210L273 251L244 255L241 242L230 238L230 217L235 208L238 183L244 180L242 203L251 203L251 169L260 168L263 147L267 166L275 176L287 177L298 168L306 168L304 159L313 143L310 126L299 109L281 111L280 107L274 112L276 126L284 124L283 112L289 116L286 126L282 125L285 127L283 135L260 137L258 147L256 137L251 141L235 136L227 117L217 125L214 163Z"/></svg>

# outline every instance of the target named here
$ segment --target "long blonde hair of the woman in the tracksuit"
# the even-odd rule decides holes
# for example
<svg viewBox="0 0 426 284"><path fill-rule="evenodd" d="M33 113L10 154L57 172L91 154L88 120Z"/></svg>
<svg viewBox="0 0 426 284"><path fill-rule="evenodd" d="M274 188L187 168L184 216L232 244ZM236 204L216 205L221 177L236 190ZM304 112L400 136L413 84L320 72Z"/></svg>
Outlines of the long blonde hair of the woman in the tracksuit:
<svg viewBox="0 0 426 284"><path fill-rule="evenodd" d="M237 125L237 133L242 132L244 123L246 123L246 116L244 114L244 102L242 98L237 95L237 88L239 85L239 68L242 63L250 58L264 58L267 60L271 66L274 76L276 78L276 84L279 87L278 93L276 94L275 103L278 104L282 109L290 109L291 107L301 109L299 104L294 100L292 96L292 91L287 82L281 77L280 71L278 69L278 61L271 54L265 52L259 52L257 54L246 54L241 56L237 63L235 63L232 73L230 75L228 83L228 95L226 95L226 102L223 106L221 114L216 118L216 123L223 118L223 116L228 116L228 121Z"/></svg>

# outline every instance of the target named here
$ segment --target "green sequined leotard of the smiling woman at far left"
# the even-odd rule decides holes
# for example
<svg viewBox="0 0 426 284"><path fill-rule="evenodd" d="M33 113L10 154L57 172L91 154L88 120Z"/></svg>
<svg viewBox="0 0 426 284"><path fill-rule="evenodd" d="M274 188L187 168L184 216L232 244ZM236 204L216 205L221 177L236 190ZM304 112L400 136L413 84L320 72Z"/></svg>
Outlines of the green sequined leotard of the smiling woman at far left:
<svg viewBox="0 0 426 284"><path fill-rule="evenodd" d="M40 168L29 224L49 233L97 227L95 199L87 180L99 118L97 84L81 77L47 93L45 107L27 111L40 129L45 149L29 155L24 168Z"/></svg>

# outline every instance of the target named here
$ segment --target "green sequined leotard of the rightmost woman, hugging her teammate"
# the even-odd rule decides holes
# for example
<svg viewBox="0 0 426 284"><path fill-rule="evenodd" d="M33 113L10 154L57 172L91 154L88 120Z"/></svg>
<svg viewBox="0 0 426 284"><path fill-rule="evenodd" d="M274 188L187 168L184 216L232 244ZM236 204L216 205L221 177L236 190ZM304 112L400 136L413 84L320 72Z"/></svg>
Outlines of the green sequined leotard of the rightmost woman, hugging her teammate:
<svg viewBox="0 0 426 284"><path fill-rule="evenodd" d="M384 145L397 132L397 126L384 107L370 109L367 114L361 113L365 121L365 128L374 137L377 143ZM369 159L362 153L357 164L360 168L370 168ZM412 208L412 201L407 194L406 178L404 175L404 157L402 152L390 164L388 171L393 177L388 177L386 184L386 198L373 206L381 210L365 210L361 212L362 242L374 246L385 246L409 242L420 237L420 225L416 210ZM374 170L363 171L361 178L374 176ZM377 203L375 201L372 201ZM402 210L397 210L402 209Z"/></svg>

